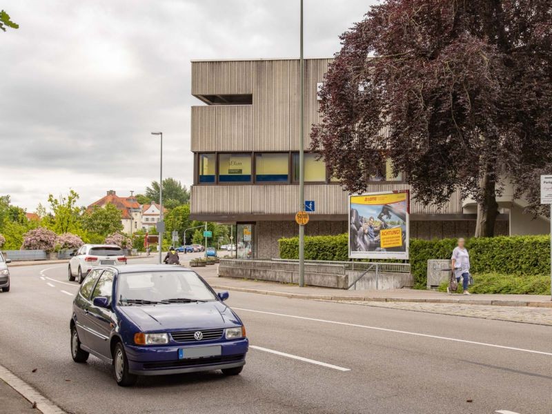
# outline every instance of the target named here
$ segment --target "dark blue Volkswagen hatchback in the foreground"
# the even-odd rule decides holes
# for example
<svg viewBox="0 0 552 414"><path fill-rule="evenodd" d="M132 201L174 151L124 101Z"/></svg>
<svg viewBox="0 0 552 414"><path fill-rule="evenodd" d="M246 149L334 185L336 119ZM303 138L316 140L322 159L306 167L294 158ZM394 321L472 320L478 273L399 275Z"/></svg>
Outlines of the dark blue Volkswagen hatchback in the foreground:
<svg viewBox="0 0 552 414"><path fill-rule="evenodd" d="M197 273L170 265L94 268L73 302L71 354L113 365L120 386L139 375L220 369L246 363L244 324Z"/></svg>

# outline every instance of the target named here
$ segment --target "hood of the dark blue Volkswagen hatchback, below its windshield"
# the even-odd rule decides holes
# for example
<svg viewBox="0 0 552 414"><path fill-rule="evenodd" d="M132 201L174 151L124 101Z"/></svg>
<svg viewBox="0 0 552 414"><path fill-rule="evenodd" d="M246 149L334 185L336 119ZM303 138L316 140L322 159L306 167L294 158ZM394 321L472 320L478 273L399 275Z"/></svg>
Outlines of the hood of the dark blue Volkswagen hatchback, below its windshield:
<svg viewBox="0 0 552 414"><path fill-rule="evenodd" d="M218 301L155 306L120 306L119 309L142 332L193 331L228 328L242 324L228 306Z"/></svg>

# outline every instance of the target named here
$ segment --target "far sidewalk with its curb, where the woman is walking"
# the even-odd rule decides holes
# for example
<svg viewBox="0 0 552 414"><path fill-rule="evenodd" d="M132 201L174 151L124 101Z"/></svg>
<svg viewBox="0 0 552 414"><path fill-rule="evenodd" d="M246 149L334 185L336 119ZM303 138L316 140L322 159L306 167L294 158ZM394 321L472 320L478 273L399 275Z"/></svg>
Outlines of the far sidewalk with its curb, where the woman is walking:
<svg viewBox="0 0 552 414"><path fill-rule="evenodd" d="M186 263L184 263L186 265ZM465 304L485 306L531 306L552 308L550 296L546 295L447 295L435 290L396 289L396 290L342 290L295 284L233 279L218 277L217 266L194 268L199 275L219 290L274 295L295 299L324 299L335 301L366 302L417 302L441 304Z"/></svg>

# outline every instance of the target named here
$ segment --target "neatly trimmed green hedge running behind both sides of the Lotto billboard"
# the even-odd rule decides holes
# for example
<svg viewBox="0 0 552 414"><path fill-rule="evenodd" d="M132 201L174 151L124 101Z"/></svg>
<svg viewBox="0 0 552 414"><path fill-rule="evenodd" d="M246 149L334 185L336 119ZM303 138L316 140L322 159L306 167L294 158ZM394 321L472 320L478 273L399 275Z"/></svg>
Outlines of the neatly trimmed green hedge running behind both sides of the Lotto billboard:
<svg viewBox="0 0 552 414"><path fill-rule="evenodd" d="M305 259L348 260L348 235L305 237ZM279 239L282 259L299 257L299 239ZM428 259L450 259L456 239L410 241L410 264L417 288L426 288ZM466 240L471 272L531 276L550 273L549 236L473 237Z"/></svg>

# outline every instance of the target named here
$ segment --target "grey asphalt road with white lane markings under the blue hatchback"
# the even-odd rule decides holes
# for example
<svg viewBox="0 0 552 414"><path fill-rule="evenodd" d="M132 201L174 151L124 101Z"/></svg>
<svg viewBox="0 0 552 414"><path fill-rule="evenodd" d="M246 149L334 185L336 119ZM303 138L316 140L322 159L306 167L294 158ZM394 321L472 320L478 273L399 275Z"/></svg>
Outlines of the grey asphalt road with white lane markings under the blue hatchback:
<svg viewBox="0 0 552 414"><path fill-rule="evenodd" d="M235 292L253 345L242 375L120 388L99 359L72 362L76 291L55 265L12 268L0 293L0 364L69 413L552 411L550 326Z"/></svg>

